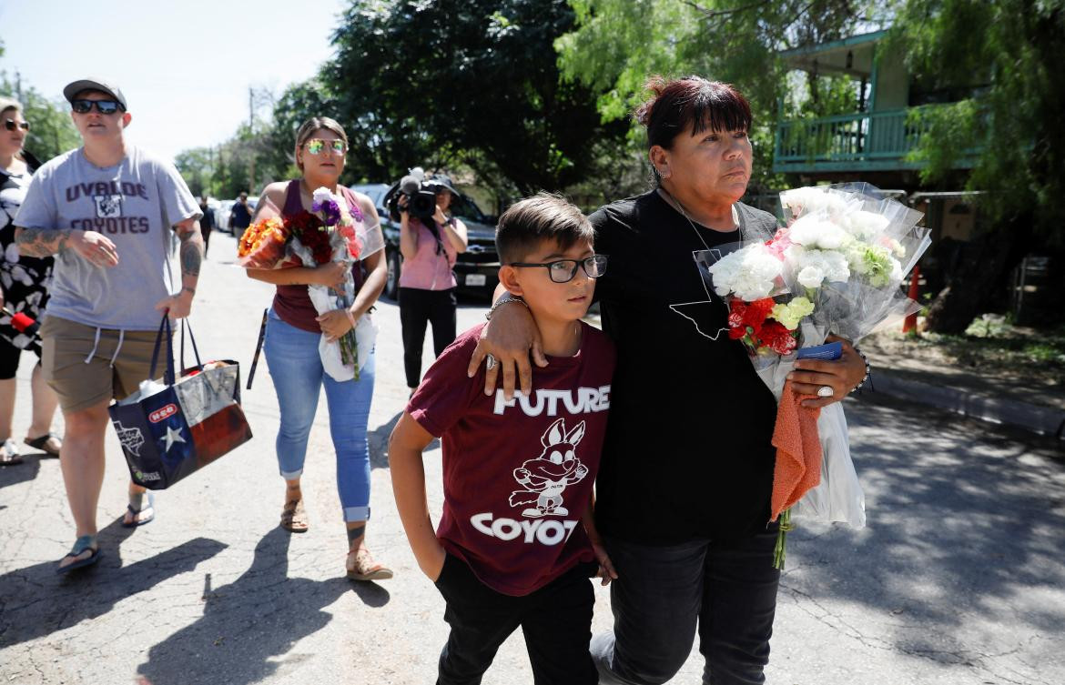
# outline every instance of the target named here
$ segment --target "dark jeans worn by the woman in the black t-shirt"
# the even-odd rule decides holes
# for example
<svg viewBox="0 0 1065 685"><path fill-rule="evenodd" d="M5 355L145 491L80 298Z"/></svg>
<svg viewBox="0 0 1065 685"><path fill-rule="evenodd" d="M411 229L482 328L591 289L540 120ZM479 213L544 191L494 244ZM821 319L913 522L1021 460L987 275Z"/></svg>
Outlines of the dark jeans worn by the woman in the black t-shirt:
<svg viewBox="0 0 1065 685"><path fill-rule="evenodd" d="M684 666L699 624L706 685L765 683L780 571L776 524L732 542L648 547L606 538L613 630L592 638L600 682L665 683Z"/></svg>

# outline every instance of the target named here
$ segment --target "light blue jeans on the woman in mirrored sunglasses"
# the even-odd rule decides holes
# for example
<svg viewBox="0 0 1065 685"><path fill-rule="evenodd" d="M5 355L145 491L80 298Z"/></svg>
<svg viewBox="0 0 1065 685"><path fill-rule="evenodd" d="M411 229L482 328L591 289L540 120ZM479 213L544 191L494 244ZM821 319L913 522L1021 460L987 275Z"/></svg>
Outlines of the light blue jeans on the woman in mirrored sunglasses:
<svg viewBox="0 0 1065 685"><path fill-rule="evenodd" d="M374 354L359 371L358 381L334 381L322 368L320 333L289 325L274 310L266 322L263 350L274 378L281 425L277 432L277 461L281 478L291 481L304 472L307 438L311 434L318 392L326 387L329 432L337 451L337 489L345 521L370 518L370 447L366 423L374 395Z"/></svg>

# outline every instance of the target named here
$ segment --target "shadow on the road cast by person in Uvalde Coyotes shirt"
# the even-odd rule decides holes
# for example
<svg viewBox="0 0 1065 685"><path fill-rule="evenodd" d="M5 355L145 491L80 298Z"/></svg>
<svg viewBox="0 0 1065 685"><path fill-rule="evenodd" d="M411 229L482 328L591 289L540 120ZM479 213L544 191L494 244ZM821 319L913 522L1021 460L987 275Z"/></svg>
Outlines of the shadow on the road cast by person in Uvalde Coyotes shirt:
<svg viewBox="0 0 1065 685"><path fill-rule="evenodd" d="M192 570L226 545L203 537L122 566L119 546L136 529L118 518L100 531L100 561L56 575L59 559L0 575L0 648L32 640L98 618L115 604Z"/></svg>

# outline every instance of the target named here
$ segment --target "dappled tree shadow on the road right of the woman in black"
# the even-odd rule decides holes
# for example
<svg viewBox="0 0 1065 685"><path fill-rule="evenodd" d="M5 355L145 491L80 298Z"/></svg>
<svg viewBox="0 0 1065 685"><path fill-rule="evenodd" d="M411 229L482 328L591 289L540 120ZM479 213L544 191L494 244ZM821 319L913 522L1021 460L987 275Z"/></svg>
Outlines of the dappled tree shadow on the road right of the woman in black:
<svg viewBox="0 0 1065 685"><path fill-rule="evenodd" d="M1059 632L1065 602L1026 598L1060 598L1065 587L1061 463L986 427L900 408L848 404L868 528L824 532L798 520L782 603L790 595L807 607L802 598L874 607L895 626L891 648L946 664L979 661L958 634L974 619ZM818 618L863 637L826 611Z"/></svg>

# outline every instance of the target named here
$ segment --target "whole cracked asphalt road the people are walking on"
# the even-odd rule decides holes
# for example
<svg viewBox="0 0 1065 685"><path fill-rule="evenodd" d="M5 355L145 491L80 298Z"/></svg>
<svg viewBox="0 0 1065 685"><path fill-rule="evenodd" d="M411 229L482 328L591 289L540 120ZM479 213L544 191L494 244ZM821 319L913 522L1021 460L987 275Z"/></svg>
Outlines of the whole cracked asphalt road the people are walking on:
<svg viewBox="0 0 1065 685"><path fill-rule="evenodd" d="M246 375L271 288L227 264L233 249L232 238L212 236L192 320L201 351L240 360ZM463 306L460 328L484 311ZM104 556L80 575L53 573L73 540L58 461L30 456L0 469L0 683L433 682L443 602L407 547L386 455L407 395L395 305L382 302L377 320L367 539L395 579L343 575L324 399L304 479L311 531L277 527L278 412L263 362L244 402L253 440L161 492L157 520L134 531L118 524L128 471L109 431ZM18 439L29 424L29 371L24 362ZM869 525L792 534L768 682L1065 682L1062 452L925 408L849 401L847 413ZM429 504L439 512L431 448ZM609 621L608 594L597 589L594 629ZM673 682L699 682L701 661L694 652ZM485 683L531 683L520 635Z"/></svg>

